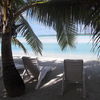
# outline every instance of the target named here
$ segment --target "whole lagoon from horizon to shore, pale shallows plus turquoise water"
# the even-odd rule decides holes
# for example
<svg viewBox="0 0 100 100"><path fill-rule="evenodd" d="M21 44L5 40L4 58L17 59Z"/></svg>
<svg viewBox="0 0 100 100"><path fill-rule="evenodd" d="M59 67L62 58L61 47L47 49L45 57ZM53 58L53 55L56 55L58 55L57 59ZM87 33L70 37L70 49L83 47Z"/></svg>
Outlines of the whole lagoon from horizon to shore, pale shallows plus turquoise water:
<svg viewBox="0 0 100 100"><path fill-rule="evenodd" d="M27 45L25 40L23 40L21 37L19 37L19 39L22 40L22 43L28 50L28 53L32 53L30 46ZM92 43L90 41L91 40L90 36L76 36L75 47L67 48L63 51L61 50L60 46L56 41L56 36L40 36L39 39L43 43L43 54L76 54L76 55L94 54L91 51ZM12 46L12 49L13 53L16 55L23 53L23 51L18 47Z"/></svg>

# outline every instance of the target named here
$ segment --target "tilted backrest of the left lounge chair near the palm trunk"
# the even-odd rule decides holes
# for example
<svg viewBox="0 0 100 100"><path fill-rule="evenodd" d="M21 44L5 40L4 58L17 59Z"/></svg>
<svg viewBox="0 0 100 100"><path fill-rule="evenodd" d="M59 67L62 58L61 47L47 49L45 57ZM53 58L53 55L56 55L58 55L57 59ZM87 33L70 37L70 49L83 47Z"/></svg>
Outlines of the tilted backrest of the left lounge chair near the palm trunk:
<svg viewBox="0 0 100 100"><path fill-rule="evenodd" d="M37 59L32 59L30 57L22 57L22 60L25 68L31 72L35 79L38 79L39 69L37 67Z"/></svg>

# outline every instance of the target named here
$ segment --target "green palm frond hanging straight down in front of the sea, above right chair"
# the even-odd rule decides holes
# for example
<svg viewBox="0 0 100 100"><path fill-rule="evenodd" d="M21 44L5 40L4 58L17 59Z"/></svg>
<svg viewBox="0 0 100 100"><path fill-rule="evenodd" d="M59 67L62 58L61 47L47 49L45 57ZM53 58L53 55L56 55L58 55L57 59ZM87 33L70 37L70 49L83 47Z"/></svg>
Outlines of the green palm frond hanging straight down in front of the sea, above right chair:
<svg viewBox="0 0 100 100"><path fill-rule="evenodd" d="M75 25L71 22L66 22L66 25L60 26L59 24L56 25L56 31L57 31L57 41L61 47L62 50L69 47L75 47L74 41L75 41ZM59 27L60 26L60 27Z"/></svg>

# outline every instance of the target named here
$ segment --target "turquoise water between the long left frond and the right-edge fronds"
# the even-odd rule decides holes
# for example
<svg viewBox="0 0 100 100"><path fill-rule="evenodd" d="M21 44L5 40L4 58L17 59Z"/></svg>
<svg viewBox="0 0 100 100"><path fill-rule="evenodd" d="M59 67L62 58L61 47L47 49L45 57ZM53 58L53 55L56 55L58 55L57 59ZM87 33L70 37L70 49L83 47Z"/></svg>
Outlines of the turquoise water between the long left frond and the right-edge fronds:
<svg viewBox="0 0 100 100"><path fill-rule="evenodd" d="M74 48L67 48L61 50L60 46L57 43L44 43L44 50L46 53L72 53L72 54L90 54L93 53L91 48L91 43L78 43Z"/></svg>

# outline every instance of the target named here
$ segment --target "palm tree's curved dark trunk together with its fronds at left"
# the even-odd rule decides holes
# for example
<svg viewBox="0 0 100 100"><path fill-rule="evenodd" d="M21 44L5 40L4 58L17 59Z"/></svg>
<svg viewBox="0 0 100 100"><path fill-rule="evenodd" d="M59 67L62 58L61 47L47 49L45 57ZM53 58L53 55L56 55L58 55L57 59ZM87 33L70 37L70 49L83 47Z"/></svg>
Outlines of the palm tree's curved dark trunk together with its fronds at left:
<svg viewBox="0 0 100 100"><path fill-rule="evenodd" d="M21 3L21 1L19 1ZM25 85L21 79L18 71L15 68L15 64L12 57L11 41L19 47L23 48L24 52L26 49L16 39L18 33L20 33L32 47L35 52L41 54L42 44L37 38L33 30L31 29L28 22L20 14L14 18L14 11L16 9L17 1L14 3L10 0L0 1L0 36L2 37L2 66L3 66L3 81L7 93L9 96L20 96L25 92ZM23 3L25 3L23 1ZM14 5L16 6L14 6ZM13 6L12 6L13 5Z"/></svg>

